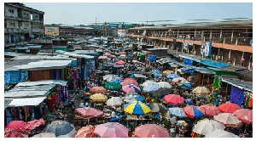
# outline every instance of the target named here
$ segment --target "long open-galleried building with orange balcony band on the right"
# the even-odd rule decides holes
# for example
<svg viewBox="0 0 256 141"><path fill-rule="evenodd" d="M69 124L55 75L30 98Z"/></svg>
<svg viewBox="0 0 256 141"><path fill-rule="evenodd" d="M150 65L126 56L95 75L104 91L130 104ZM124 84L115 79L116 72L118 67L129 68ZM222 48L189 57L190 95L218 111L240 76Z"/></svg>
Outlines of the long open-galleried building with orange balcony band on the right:
<svg viewBox="0 0 256 141"><path fill-rule="evenodd" d="M127 36L150 45L202 57L206 57L202 47L211 42L209 59L248 68L253 62L253 20L143 26L127 31Z"/></svg>

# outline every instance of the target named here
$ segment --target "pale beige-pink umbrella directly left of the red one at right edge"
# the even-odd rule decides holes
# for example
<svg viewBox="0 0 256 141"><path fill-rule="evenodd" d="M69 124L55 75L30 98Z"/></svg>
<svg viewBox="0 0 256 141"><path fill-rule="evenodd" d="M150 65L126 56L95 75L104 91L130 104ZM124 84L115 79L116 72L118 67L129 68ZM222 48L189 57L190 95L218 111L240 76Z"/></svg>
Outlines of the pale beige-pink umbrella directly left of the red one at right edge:
<svg viewBox="0 0 256 141"><path fill-rule="evenodd" d="M240 127L241 121L236 116L230 113L220 113L218 116L213 116L215 121L219 121L226 127Z"/></svg>

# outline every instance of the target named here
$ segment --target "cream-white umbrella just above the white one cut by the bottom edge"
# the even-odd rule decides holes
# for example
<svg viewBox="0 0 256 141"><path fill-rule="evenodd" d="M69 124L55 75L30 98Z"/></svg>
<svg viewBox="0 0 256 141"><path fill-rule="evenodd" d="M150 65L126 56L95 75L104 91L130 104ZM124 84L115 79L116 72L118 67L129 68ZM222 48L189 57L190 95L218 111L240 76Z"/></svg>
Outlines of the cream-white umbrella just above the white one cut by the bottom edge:
<svg viewBox="0 0 256 141"><path fill-rule="evenodd" d="M193 132L199 133L201 135L206 135L207 133L210 133L214 128L224 130L225 127L218 121L205 120L205 121L197 122L197 124L193 129Z"/></svg>

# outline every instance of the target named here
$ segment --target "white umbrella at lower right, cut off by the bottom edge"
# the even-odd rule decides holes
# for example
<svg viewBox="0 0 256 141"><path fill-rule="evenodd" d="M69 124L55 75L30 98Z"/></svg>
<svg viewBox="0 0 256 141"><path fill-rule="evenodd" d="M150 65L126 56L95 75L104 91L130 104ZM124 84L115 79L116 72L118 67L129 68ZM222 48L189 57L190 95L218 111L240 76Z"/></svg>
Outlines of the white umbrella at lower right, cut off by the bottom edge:
<svg viewBox="0 0 256 141"><path fill-rule="evenodd" d="M205 138L239 138L234 133L229 133L227 131L215 128L210 133L205 135Z"/></svg>

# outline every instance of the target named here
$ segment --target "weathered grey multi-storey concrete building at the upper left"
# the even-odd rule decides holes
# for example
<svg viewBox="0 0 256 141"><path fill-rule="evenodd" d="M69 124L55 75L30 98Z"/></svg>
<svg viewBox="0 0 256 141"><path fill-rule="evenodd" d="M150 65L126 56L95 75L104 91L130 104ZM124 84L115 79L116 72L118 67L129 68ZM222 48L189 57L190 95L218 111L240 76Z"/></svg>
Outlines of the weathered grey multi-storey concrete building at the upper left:
<svg viewBox="0 0 256 141"><path fill-rule="evenodd" d="M23 3L4 3L4 42L28 42L44 35L44 12Z"/></svg>

